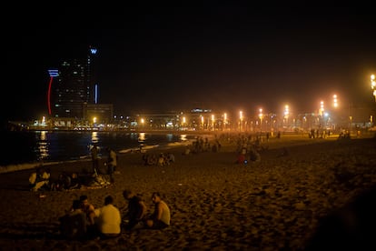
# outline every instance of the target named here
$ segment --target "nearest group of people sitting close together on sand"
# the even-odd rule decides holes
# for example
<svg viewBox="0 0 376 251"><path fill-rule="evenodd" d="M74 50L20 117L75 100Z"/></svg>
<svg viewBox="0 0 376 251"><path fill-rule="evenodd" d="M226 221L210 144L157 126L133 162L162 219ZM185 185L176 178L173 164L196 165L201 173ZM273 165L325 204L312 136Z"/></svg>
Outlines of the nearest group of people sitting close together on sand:
<svg viewBox="0 0 376 251"><path fill-rule="evenodd" d="M104 206L98 208L85 195L75 199L64 216L59 217L61 235L75 240L107 239L120 236L122 230L170 226L170 208L158 192L152 195L154 210L150 215L141 196L131 190L124 190L123 196L128 203L123 214L115 206L113 196L105 196Z"/></svg>

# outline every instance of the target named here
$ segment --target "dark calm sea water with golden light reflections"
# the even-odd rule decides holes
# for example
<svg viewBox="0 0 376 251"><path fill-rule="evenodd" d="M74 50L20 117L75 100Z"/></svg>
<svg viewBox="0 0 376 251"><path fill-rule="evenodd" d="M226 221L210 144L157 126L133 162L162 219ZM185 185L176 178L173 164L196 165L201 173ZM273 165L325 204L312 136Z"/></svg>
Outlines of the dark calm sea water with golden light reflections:
<svg viewBox="0 0 376 251"><path fill-rule="evenodd" d="M39 161L55 162L79 160L90 156L90 147L99 146L106 155L105 147L125 153L143 146L169 146L189 142L193 135L145 134L128 132L1 132L3 150L0 166L30 164Z"/></svg>

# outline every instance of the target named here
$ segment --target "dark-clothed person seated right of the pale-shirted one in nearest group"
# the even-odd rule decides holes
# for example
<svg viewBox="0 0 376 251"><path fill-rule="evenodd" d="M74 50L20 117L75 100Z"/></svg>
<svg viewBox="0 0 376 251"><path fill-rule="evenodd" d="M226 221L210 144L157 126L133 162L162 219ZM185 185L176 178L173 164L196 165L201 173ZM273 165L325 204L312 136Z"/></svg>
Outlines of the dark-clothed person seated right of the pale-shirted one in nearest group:
<svg viewBox="0 0 376 251"><path fill-rule="evenodd" d="M128 224L126 228L131 230L137 224L143 223L147 208L142 197L134 195L131 190L124 190L123 196L128 201L128 212L126 214Z"/></svg>

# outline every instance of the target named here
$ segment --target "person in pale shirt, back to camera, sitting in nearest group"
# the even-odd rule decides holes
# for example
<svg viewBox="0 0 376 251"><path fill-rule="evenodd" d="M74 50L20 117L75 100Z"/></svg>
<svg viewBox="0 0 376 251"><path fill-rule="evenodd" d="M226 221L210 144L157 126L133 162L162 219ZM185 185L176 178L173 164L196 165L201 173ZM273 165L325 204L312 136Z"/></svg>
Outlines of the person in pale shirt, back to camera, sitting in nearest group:
<svg viewBox="0 0 376 251"><path fill-rule="evenodd" d="M113 196L104 198L104 206L95 209L96 226L101 238L117 237L121 233L122 216L114 206Z"/></svg>

